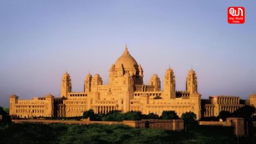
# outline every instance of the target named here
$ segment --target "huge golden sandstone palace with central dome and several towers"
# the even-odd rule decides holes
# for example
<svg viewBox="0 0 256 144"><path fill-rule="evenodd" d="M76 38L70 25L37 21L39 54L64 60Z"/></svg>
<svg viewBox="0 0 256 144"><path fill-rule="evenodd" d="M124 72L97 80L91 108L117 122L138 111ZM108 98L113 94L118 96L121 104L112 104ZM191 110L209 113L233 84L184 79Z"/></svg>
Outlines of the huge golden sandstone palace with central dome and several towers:
<svg viewBox="0 0 256 144"><path fill-rule="evenodd" d="M255 101L256 96L253 97ZM61 81L60 97L51 94L43 98L18 99L10 96L10 115L12 117L77 117L84 111L93 109L95 113L141 111L143 114L162 111L182 113L192 111L199 119L219 114L219 111L234 111L240 105L239 97L213 96L201 105L198 82L193 69L186 77L186 90L177 91L175 74L170 67L163 77L163 88L158 75L152 75L144 84L142 66L129 54L127 46L123 54L109 69L109 83L103 84L100 75L88 74L85 77L84 91L72 92L72 81L64 73Z"/></svg>

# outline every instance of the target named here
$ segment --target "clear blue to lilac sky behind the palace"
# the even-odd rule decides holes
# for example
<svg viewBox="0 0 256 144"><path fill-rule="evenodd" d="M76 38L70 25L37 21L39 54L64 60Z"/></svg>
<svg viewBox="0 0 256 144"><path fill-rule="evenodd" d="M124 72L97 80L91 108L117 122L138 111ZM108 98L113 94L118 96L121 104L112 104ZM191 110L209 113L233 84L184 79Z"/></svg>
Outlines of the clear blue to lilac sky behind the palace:
<svg viewBox="0 0 256 144"><path fill-rule="evenodd" d="M144 83L166 69L185 90L192 68L202 98L247 99L256 91L256 1L0 1L0 106L9 96L60 96L67 71L72 91L87 73L108 70L127 43ZM244 24L228 24L227 9L245 8Z"/></svg>

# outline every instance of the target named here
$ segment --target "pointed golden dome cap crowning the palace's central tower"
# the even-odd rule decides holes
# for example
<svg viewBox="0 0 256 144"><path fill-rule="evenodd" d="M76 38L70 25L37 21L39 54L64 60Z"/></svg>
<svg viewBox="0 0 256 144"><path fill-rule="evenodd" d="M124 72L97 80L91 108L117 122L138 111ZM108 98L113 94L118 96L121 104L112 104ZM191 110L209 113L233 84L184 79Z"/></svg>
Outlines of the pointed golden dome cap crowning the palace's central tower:
<svg viewBox="0 0 256 144"><path fill-rule="evenodd" d="M121 68L121 65L123 65L124 69L137 69L138 67L136 60L129 54L127 46L125 46L123 54L116 60L115 63L117 68Z"/></svg>

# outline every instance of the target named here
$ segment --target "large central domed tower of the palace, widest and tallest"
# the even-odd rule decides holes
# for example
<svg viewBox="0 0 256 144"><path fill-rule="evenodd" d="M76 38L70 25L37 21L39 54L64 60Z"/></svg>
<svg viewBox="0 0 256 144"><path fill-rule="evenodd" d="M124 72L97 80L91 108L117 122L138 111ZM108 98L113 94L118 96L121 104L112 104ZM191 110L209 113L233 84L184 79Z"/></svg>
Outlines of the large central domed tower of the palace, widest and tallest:
<svg viewBox="0 0 256 144"><path fill-rule="evenodd" d="M127 46L123 54L116 60L116 63L110 67L110 84L121 84L120 79L129 73L133 77L134 84L143 84L143 70L136 60L129 54Z"/></svg>

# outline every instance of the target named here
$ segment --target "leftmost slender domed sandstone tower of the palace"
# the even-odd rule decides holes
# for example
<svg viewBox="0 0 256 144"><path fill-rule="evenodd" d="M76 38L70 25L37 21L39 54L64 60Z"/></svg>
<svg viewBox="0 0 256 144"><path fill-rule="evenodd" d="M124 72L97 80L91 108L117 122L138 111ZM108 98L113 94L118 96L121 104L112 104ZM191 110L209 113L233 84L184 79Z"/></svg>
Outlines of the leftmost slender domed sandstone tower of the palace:
<svg viewBox="0 0 256 144"><path fill-rule="evenodd" d="M68 73L64 73L61 81L61 88L60 88L60 97L67 97L68 92L71 92L72 90L72 84L70 75Z"/></svg>

